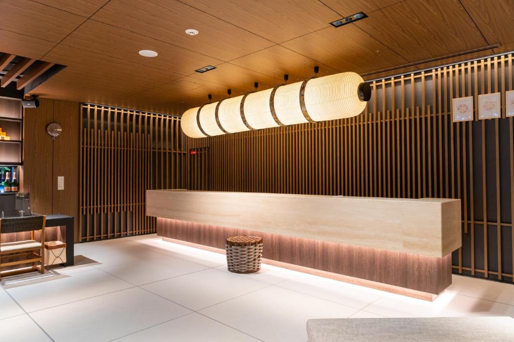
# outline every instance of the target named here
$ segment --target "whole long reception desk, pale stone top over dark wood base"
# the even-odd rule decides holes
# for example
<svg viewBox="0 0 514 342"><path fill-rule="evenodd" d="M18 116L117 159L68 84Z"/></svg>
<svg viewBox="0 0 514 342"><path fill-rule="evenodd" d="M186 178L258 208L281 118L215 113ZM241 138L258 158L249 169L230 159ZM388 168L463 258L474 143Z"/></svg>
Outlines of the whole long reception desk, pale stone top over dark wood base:
<svg viewBox="0 0 514 342"><path fill-rule="evenodd" d="M266 263L428 300L461 247L459 199L148 190L146 214L174 242L259 235Z"/></svg>

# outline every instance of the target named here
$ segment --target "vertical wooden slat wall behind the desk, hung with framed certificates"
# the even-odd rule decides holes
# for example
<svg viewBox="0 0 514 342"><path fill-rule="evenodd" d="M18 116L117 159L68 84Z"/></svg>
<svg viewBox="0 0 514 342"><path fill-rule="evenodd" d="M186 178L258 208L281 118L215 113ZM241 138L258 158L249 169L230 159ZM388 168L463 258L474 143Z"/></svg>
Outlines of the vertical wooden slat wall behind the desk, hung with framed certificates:
<svg viewBox="0 0 514 342"><path fill-rule="evenodd" d="M380 79L357 117L188 138L209 151L209 163L188 165L205 168L190 170L209 177L205 190L461 198L454 272L513 281L512 81L511 54ZM478 120L478 95L493 92L502 118ZM452 123L451 99L462 96L474 96L475 120Z"/></svg>

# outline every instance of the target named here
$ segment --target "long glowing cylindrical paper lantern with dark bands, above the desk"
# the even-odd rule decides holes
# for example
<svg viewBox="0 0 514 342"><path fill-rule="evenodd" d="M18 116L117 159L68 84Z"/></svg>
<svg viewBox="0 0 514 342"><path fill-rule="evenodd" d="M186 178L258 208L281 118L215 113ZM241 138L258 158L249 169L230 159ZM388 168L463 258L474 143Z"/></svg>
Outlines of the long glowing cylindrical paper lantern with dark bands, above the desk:
<svg viewBox="0 0 514 342"><path fill-rule="evenodd" d="M181 126L186 135L201 138L316 123L359 115L370 98L371 87L359 74L343 72L191 108Z"/></svg>

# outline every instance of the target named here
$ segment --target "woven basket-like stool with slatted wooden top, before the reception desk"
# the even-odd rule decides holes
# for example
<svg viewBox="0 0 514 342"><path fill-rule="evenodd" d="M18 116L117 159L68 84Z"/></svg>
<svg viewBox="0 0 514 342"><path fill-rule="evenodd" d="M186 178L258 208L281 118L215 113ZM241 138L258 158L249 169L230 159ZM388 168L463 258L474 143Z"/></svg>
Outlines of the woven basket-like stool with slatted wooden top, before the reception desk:
<svg viewBox="0 0 514 342"><path fill-rule="evenodd" d="M227 267L234 273L253 273L261 269L262 237L232 236L227 238Z"/></svg>

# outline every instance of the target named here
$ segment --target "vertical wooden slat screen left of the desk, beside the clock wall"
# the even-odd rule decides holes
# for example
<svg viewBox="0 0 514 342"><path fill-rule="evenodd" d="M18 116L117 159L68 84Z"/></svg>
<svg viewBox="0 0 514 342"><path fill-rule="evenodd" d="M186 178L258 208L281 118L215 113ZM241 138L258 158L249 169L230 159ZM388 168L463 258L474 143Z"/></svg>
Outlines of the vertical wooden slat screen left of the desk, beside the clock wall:
<svg viewBox="0 0 514 342"><path fill-rule="evenodd" d="M81 241L155 232L146 189L186 188L180 118L82 104Z"/></svg>

